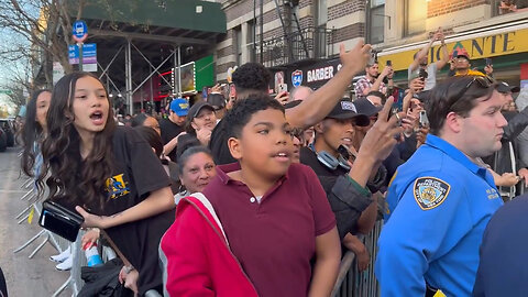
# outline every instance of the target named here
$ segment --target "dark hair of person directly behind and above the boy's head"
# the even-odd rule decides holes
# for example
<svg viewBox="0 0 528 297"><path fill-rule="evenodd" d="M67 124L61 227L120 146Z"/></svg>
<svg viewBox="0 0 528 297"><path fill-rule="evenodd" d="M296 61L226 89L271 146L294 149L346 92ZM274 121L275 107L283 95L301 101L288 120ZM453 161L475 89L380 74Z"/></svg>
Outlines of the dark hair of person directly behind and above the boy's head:
<svg viewBox="0 0 528 297"><path fill-rule="evenodd" d="M272 74L270 70L258 63L245 63L233 73L237 94L246 90L258 90L267 94L271 80Z"/></svg>

